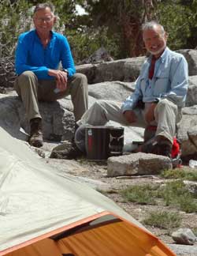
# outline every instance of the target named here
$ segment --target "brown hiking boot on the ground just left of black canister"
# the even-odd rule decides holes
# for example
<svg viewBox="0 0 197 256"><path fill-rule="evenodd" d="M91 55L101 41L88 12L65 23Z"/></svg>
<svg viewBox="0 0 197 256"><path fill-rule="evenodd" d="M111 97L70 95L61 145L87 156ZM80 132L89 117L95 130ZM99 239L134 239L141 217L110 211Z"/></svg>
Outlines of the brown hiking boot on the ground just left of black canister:
<svg viewBox="0 0 197 256"><path fill-rule="evenodd" d="M80 156L84 156L84 152L80 151L75 143L71 145L61 145L61 147L54 148L50 154L50 158L58 159L77 159Z"/></svg>

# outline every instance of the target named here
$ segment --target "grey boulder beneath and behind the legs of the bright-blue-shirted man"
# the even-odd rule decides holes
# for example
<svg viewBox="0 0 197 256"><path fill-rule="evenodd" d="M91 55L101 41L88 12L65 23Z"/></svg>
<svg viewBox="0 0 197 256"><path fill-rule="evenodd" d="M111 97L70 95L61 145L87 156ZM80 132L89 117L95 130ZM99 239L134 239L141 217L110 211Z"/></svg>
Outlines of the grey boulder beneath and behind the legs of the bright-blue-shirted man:
<svg viewBox="0 0 197 256"><path fill-rule="evenodd" d="M20 132L20 127L29 133L28 120L25 117L24 106L18 96L0 94L0 125L13 137L25 140L26 135ZM71 100L59 100L54 103L39 104L43 117L43 132L45 139L55 135L64 139L72 137L74 116Z"/></svg>

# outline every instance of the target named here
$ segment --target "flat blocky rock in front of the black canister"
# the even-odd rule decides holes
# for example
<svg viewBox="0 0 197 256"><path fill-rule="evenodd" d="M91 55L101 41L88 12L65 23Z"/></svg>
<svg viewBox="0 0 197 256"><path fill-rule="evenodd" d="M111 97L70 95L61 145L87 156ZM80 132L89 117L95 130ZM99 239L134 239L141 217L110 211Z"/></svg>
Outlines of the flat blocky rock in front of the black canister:
<svg viewBox="0 0 197 256"><path fill-rule="evenodd" d="M125 156L112 156L107 160L107 175L155 175L163 170L172 169L169 157L142 152Z"/></svg>

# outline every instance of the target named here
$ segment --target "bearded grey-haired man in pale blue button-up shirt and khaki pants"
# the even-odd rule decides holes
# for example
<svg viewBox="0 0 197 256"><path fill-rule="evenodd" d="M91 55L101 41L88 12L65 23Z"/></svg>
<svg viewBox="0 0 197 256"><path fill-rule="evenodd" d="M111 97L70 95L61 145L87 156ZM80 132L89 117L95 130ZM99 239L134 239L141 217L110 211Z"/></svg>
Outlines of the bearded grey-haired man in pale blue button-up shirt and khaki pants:
<svg viewBox="0 0 197 256"><path fill-rule="evenodd" d="M167 33L161 24L154 21L144 24L143 41L151 55L143 63L135 92L123 104L113 100L93 104L78 122L77 148L65 153L67 158L85 152L84 127L87 124L103 126L110 120L125 126L155 126L154 138L139 150L171 156L176 125L188 91L188 63L183 55L166 47Z"/></svg>

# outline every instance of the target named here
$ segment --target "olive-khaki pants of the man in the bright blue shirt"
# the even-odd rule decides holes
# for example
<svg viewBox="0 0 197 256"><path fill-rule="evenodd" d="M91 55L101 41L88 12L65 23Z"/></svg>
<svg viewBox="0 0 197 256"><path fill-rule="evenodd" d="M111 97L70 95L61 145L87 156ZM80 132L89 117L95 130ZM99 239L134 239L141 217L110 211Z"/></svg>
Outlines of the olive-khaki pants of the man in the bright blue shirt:
<svg viewBox="0 0 197 256"><path fill-rule="evenodd" d="M55 80L38 80L32 71L21 73L15 81L14 88L24 103L28 120L42 118L39 113L39 100L55 101L69 94L71 95L76 121L87 111L87 77L82 73L76 73L69 78L64 92L55 93Z"/></svg>

